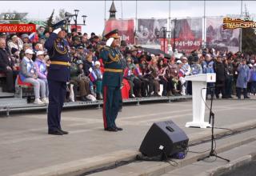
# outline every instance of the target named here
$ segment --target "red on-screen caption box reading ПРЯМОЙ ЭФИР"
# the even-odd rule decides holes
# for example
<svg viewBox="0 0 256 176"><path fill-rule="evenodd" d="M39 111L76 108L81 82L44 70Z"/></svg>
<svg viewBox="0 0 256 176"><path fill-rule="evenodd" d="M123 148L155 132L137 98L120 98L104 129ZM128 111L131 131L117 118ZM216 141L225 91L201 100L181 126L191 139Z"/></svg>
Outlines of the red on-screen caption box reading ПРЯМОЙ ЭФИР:
<svg viewBox="0 0 256 176"><path fill-rule="evenodd" d="M0 24L0 32L31 33L36 32L35 24Z"/></svg>

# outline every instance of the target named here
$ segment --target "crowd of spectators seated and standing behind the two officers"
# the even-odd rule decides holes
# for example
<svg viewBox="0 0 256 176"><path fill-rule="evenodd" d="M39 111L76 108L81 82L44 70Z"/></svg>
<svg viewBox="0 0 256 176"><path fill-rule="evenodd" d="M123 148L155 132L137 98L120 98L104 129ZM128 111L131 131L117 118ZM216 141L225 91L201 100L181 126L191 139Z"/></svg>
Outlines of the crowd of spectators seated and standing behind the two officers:
<svg viewBox="0 0 256 176"><path fill-rule="evenodd" d="M0 71L6 75L4 91L14 92L16 79L34 86L35 103L48 103L47 67L50 57L44 43L51 28L39 27L32 34L0 34ZM106 47L104 38L72 30L66 31L71 58L69 91L66 101L95 101L102 99L104 64L100 51ZM194 50L190 54L152 54L142 46L127 46L121 41L120 50L126 58L123 78L129 98L177 96L192 94L191 82L185 77L193 74L216 73L215 98L249 98L256 94L256 57L254 54L211 49ZM181 51L182 53L182 51ZM178 57L177 57L178 56ZM221 94L221 96L220 96ZM209 98L210 91L207 91Z"/></svg>

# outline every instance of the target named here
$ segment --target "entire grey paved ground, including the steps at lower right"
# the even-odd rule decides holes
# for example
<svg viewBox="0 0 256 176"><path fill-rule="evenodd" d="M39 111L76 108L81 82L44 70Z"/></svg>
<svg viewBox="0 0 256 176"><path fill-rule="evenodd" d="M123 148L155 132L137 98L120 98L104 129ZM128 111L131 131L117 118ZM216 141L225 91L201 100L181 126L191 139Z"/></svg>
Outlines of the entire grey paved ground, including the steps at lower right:
<svg viewBox="0 0 256 176"><path fill-rule="evenodd" d="M207 101L207 104L210 102ZM240 157L256 152L254 142L256 131L253 129L256 126L255 106L255 98L240 101L214 100L216 127L237 131L246 130L241 134L227 136L217 141L218 154L230 158L230 163L234 164L234 161ZM103 130L102 109L87 107L64 110L62 129L68 130L70 134L63 136L47 134L45 111L11 114L8 118L3 115L0 118L0 175L78 175L116 161L129 161L138 154L138 148L150 126L154 122L168 120L172 120L186 132L190 138L190 144L210 138L210 128L185 127L186 122L192 121L191 100L142 103L140 106L126 105L118 114L117 125L123 128L119 132ZM209 121L207 108L205 121ZM230 130L215 129L215 133L225 134ZM197 151L207 149L210 149L210 142L190 147L190 150ZM184 160L186 163L183 162L182 166L191 166L196 162L196 158L193 158L195 156L198 157L197 154L188 153ZM190 161L188 161L189 158ZM181 162L178 161L178 164ZM92 175L170 175L168 172L174 171L176 172L173 173L174 175L194 175L191 173L209 170L210 164L211 166L226 165L225 161L219 159L210 164L209 162L197 163L197 165L194 164L194 172L190 171L187 174L181 174L182 167L180 171L178 169L175 171L174 166L167 167L170 164L166 162L146 162L146 164L132 162L114 170ZM162 166L165 171L156 169L157 166ZM196 166L199 166L199 169Z"/></svg>

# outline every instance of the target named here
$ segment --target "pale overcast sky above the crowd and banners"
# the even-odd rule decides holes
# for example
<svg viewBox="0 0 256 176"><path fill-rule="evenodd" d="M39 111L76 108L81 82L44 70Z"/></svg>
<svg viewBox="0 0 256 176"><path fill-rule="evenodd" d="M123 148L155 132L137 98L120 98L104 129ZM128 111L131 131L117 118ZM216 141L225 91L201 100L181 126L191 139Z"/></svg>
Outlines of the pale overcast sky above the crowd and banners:
<svg viewBox="0 0 256 176"><path fill-rule="evenodd" d="M0 12L16 10L29 13L26 18L46 19L52 10L55 14L59 9L73 13L75 9L80 10L78 22L82 23L82 15L85 14L86 25L82 32L95 32L102 34L105 18L109 18L109 10L112 1L2 1ZM137 18L168 18L170 3L170 17L202 17L203 1L138 1ZM117 9L117 18L135 18L135 1L114 1ZM243 10L245 4L250 14L256 9L256 2L242 1ZM206 1L206 16L224 16L226 14L240 14L241 1Z"/></svg>

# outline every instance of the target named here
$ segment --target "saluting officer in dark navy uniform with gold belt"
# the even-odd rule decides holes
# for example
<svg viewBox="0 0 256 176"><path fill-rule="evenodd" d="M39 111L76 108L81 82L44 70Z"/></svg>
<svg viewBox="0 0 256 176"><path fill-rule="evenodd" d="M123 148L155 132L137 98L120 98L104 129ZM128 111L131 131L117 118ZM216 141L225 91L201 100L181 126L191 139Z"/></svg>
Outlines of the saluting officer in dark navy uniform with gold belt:
<svg viewBox="0 0 256 176"><path fill-rule="evenodd" d="M70 81L69 46L64 39L66 31L58 28L46 40L45 48L50 56L47 75L49 85L48 134L68 134L61 127L61 113L66 96L66 82Z"/></svg>

